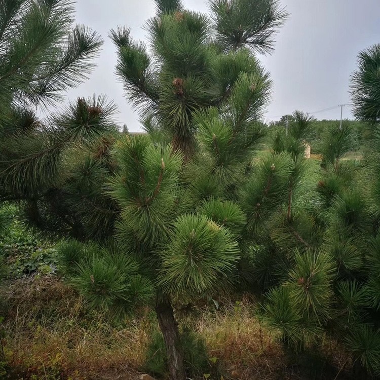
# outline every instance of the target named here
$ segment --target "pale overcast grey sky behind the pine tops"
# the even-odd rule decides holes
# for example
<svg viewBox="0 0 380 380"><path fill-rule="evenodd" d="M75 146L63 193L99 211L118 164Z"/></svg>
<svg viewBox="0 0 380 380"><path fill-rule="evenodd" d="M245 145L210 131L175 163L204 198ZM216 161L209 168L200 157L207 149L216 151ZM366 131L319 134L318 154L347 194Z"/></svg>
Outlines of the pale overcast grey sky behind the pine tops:
<svg viewBox="0 0 380 380"><path fill-rule="evenodd" d="M187 8L207 12L203 0L184 0ZM281 0L290 17L277 35L275 52L259 56L271 72L273 98L266 118L278 120L295 109L316 112L318 119L338 119L338 104L350 102L349 78L360 50L380 43L380 0ZM105 94L120 110L118 123L130 131L140 129L138 115L124 97L115 76L115 48L107 37L117 25L132 29L135 39L144 40L141 28L155 13L153 0L77 0L77 22L103 36L105 43L90 80L68 93L77 96ZM349 105L344 118L350 118Z"/></svg>

